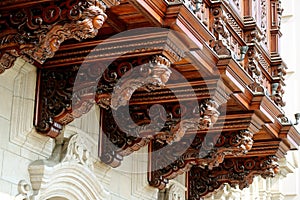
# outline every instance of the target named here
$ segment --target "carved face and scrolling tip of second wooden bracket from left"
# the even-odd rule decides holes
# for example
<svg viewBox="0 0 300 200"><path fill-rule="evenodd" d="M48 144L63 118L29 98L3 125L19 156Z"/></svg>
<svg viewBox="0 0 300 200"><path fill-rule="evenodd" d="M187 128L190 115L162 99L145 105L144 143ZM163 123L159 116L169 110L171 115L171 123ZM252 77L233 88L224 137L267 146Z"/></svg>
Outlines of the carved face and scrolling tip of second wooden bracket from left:
<svg viewBox="0 0 300 200"><path fill-rule="evenodd" d="M152 91L164 87L171 75L170 66L171 62L163 56L155 56L149 63L137 66L114 87L110 107L116 110L127 105L139 88Z"/></svg>

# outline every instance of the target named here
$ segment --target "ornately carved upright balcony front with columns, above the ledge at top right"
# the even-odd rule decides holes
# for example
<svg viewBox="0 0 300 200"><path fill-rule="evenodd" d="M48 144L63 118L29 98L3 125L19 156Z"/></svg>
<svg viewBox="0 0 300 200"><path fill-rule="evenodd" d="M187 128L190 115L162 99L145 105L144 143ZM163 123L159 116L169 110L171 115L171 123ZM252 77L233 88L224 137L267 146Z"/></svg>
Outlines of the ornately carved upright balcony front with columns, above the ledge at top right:
<svg viewBox="0 0 300 200"><path fill-rule="evenodd" d="M282 8L279 0L166 0L184 4L214 35L220 57L231 56L253 78L249 87L284 106L286 67L279 55ZM248 49L248 51L247 51ZM246 50L246 51L245 51Z"/></svg>

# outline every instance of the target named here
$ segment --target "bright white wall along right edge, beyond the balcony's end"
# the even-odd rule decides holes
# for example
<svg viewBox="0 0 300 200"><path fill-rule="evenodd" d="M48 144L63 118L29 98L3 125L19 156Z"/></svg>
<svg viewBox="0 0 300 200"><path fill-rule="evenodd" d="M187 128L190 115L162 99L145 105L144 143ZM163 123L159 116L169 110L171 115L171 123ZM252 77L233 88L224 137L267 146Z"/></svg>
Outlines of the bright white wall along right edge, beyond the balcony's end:
<svg viewBox="0 0 300 200"><path fill-rule="evenodd" d="M284 107L287 117L295 123L294 114L300 113L300 38L298 35L300 27L299 0L282 0L283 17L281 24L281 56L288 66L286 77L287 87L284 98L287 105ZM300 121L299 121L300 123ZM300 132L300 125L296 128ZM300 151L289 152L287 160L294 165L294 173L287 174L281 185L285 200L300 199Z"/></svg>

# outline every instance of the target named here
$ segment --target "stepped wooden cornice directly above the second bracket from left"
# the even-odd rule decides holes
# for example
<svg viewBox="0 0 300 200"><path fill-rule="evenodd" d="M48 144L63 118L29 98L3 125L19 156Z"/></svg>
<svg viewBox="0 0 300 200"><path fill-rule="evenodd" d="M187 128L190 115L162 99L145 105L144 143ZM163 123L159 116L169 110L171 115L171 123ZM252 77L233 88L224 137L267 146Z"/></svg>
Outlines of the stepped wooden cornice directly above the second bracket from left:
<svg viewBox="0 0 300 200"><path fill-rule="evenodd" d="M43 68L70 64L113 62L118 58L162 54L172 63L180 61L188 51L187 44L175 32L162 28L129 30L111 38L67 44Z"/></svg>

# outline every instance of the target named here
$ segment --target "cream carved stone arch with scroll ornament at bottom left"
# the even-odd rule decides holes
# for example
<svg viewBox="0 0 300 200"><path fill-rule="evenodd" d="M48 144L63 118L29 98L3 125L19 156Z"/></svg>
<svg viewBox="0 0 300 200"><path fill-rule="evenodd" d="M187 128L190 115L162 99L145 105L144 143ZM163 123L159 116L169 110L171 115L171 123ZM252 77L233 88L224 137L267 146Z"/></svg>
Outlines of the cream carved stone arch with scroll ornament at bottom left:
<svg viewBox="0 0 300 200"><path fill-rule="evenodd" d="M108 199L110 194L95 176L93 165L83 136L57 139L49 159L34 161L29 166L30 199ZM28 188L27 185L23 188Z"/></svg>

